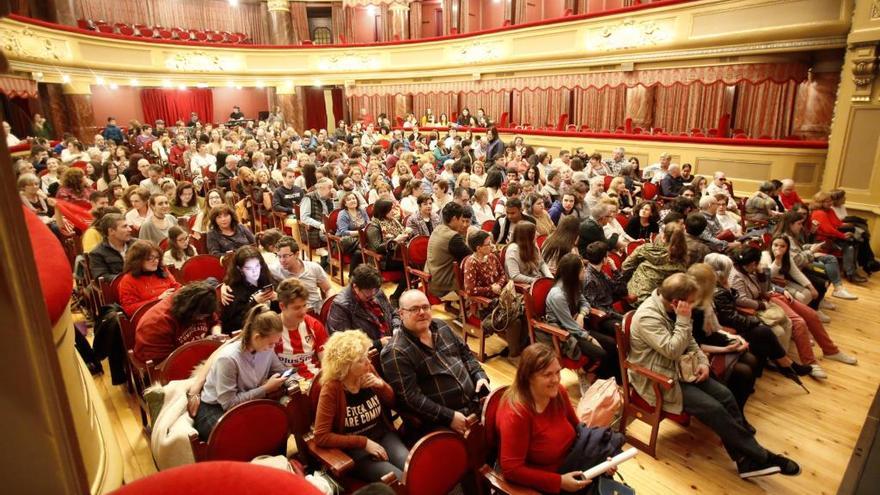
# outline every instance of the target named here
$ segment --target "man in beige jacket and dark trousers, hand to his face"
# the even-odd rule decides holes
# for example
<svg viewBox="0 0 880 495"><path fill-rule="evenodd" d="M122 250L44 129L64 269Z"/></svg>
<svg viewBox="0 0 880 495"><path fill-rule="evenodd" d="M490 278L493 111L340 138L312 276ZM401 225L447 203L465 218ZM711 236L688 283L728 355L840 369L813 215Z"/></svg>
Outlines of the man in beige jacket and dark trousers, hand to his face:
<svg viewBox="0 0 880 495"><path fill-rule="evenodd" d="M633 317L629 360L673 380L672 388L663 392L663 409L692 414L718 434L741 478L800 473L794 461L757 442L733 394L710 376L709 361L693 337L692 307L698 293L696 280L684 273L669 276L653 290ZM699 363L693 382L679 378L678 362L686 352L694 353ZM630 373L629 379L643 399L656 402L644 375Z"/></svg>

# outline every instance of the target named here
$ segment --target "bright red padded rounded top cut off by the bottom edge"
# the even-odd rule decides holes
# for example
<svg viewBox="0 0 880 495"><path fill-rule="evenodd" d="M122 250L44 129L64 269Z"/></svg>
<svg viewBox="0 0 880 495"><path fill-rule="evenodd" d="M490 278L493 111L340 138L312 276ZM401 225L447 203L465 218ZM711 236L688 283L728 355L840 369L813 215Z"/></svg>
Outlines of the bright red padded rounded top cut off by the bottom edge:
<svg viewBox="0 0 880 495"><path fill-rule="evenodd" d="M141 478L111 492L112 495L238 495L242 493L289 493L321 495L303 477L280 469L246 462L200 462Z"/></svg>

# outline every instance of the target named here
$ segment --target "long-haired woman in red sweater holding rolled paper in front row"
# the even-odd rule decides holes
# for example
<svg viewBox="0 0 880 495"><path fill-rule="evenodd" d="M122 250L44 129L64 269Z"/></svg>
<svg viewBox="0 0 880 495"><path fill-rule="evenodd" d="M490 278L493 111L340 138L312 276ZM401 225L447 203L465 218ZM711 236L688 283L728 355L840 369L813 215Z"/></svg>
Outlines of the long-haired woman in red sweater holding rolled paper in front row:
<svg viewBox="0 0 880 495"><path fill-rule="evenodd" d="M550 346L526 347L498 406L498 460L504 478L542 493L580 492L591 483L579 470L558 472L568 460L579 423L560 383L561 370Z"/></svg>

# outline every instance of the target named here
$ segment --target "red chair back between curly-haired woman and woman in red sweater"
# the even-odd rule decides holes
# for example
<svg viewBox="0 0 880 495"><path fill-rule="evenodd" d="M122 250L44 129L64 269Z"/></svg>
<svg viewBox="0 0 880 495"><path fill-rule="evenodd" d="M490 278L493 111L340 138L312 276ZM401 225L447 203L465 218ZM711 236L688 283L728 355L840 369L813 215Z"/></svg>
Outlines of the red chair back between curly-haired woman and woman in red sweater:
<svg viewBox="0 0 880 495"><path fill-rule="evenodd" d="M408 493L445 495L468 474L464 439L452 431L435 431L410 450L403 470Z"/></svg>

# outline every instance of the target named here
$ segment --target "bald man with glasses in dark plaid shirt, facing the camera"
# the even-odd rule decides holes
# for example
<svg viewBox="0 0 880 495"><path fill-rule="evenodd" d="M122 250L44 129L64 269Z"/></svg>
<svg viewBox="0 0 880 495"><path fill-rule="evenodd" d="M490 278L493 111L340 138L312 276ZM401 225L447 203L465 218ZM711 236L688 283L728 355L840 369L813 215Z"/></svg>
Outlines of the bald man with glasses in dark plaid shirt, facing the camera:
<svg viewBox="0 0 880 495"><path fill-rule="evenodd" d="M479 411L480 396L489 392L486 372L446 323L432 319L424 293L404 292L399 313L401 331L382 350L385 379L425 431L464 433L465 418Z"/></svg>

